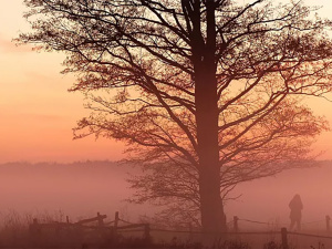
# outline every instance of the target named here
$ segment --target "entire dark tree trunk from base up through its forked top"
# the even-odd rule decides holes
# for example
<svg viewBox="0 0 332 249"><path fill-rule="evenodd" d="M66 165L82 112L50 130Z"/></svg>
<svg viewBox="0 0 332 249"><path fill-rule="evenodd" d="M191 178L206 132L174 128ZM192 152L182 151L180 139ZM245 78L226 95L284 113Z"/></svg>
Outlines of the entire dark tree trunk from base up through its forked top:
<svg viewBox="0 0 332 249"><path fill-rule="evenodd" d="M206 40L201 35L199 6L197 3L196 12L193 12L196 15L193 18L191 44L195 68L200 214L204 232L216 237L218 232L225 231L226 217L220 197L215 1L206 1Z"/></svg>

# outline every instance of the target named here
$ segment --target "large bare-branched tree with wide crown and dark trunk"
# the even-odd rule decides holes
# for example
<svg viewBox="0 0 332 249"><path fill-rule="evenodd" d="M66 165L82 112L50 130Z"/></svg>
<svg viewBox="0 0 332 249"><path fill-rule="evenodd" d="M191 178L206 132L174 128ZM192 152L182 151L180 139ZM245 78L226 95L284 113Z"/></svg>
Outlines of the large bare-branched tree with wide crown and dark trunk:
<svg viewBox="0 0 332 249"><path fill-rule="evenodd" d="M324 31L331 23L301 1L25 4L34 31L19 40L64 51L64 73L77 74L71 91L90 100L92 114L77 123L76 137L125 141L136 158L162 165L160 181L137 187L156 194L169 186L168 194L149 197L198 201L206 232L225 229L220 189L305 158L311 139L326 128L300 96L331 91L332 45ZM191 200L185 188L175 195L178 185L166 181L163 165L194 188Z"/></svg>

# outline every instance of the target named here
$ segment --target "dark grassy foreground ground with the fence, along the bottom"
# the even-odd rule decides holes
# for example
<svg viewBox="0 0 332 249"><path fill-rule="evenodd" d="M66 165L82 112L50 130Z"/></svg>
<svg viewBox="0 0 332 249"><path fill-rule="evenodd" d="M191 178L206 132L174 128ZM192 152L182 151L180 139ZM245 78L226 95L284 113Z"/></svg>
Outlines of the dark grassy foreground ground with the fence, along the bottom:
<svg viewBox="0 0 332 249"><path fill-rule="evenodd" d="M113 216L112 216L113 217ZM116 219L117 217L117 219ZM283 235L282 235L283 230ZM234 230L232 224L214 246L204 247L199 229L172 230L156 225L131 224L106 215L70 222L62 214L21 216L11 212L0 230L0 248L216 248L216 249L330 249L328 230L287 231L278 225Z"/></svg>

